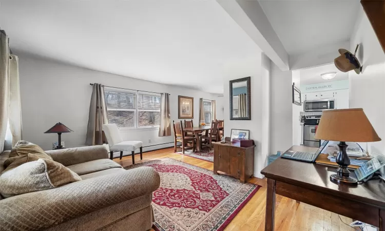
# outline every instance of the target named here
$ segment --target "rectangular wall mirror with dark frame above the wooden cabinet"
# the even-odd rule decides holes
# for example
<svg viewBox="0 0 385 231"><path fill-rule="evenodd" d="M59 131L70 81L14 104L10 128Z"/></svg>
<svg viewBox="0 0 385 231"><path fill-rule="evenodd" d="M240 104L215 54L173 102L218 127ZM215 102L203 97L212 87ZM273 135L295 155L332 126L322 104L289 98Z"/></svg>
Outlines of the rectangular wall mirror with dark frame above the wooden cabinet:
<svg viewBox="0 0 385 231"><path fill-rule="evenodd" d="M250 77L230 81L230 120L252 119L250 82Z"/></svg>

